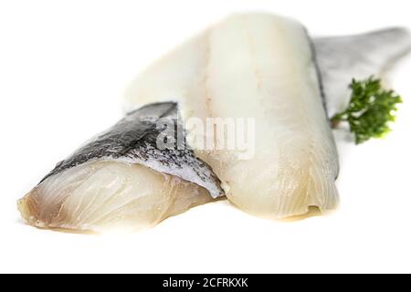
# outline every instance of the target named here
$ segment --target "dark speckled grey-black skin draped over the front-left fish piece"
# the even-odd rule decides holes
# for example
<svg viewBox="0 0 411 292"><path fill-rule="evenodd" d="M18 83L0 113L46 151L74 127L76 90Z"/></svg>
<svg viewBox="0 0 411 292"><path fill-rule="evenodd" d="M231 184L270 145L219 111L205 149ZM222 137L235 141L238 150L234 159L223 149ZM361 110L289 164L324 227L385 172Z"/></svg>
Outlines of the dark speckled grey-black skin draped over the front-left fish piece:
<svg viewBox="0 0 411 292"><path fill-rule="evenodd" d="M194 151L186 145L185 139L180 142L182 145L178 145L178 148L158 149L157 138L163 132L163 129L157 129L159 120L173 125L176 129L183 129L176 127L179 119L175 102L149 104L127 114L110 130L86 143L68 159L58 162L56 168L40 183L47 181L52 175L80 164L108 160L139 163L157 172L172 174L205 187L213 197L224 194L216 174L205 162L195 157ZM175 135L177 134L178 130ZM180 134L184 137L184 133ZM175 136L175 141L176 138Z"/></svg>

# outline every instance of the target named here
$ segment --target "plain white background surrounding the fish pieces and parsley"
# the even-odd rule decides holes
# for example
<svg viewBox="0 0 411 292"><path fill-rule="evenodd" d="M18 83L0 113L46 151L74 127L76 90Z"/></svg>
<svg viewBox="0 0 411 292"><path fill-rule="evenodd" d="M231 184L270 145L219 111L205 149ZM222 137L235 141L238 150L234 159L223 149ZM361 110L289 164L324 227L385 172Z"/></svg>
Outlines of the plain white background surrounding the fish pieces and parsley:
<svg viewBox="0 0 411 292"><path fill-rule="evenodd" d="M226 201L134 235L72 235L19 219L16 200L122 115L153 59L236 11L293 16L312 35L411 27L409 1L0 1L0 272L411 272L411 57L390 74L395 131L339 140L341 206L271 222ZM337 133L337 136L342 136Z"/></svg>

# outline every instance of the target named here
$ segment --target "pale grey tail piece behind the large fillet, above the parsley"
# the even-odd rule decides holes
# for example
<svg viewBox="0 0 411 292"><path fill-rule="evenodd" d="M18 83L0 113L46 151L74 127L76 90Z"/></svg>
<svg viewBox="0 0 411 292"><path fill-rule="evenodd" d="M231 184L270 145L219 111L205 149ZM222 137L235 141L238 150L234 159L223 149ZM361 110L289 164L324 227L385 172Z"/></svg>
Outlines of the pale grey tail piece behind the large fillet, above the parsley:
<svg viewBox="0 0 411 292"><path fill-rule="evenodd" d="M348 105L353 78L384 78L385 70L411 51L411 33L391 27L354 36L314 37L312 43L331 118Z"/></svg>

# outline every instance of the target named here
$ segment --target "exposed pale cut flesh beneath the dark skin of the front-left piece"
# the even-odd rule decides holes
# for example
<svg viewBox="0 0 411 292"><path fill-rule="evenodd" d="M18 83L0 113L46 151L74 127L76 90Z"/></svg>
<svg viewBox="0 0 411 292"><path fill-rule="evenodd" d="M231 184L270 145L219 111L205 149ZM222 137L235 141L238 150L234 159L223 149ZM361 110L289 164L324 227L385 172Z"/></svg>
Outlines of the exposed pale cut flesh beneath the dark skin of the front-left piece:
<svg viewBox="0 0 411 292"><path fill-rule="evenodd" d="M39 228L102 234L145 229L212 201L195 183L139 164L90 162L48 178L17 208Z"/></svg>

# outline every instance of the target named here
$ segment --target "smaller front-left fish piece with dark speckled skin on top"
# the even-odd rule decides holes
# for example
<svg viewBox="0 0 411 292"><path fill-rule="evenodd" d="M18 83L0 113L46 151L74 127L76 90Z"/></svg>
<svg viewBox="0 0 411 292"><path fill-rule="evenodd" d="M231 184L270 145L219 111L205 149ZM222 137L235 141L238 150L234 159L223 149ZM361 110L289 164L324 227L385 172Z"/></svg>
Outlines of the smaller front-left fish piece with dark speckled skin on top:
<svg viewBox="0 0 411 292"><path fill-rule="evenodd" d="M136 230L222 195L214 172L188 146L158 149L159 120L177 125L177 105L134 110L87 142L18 202L23 217L43 228Z"/></svg>

